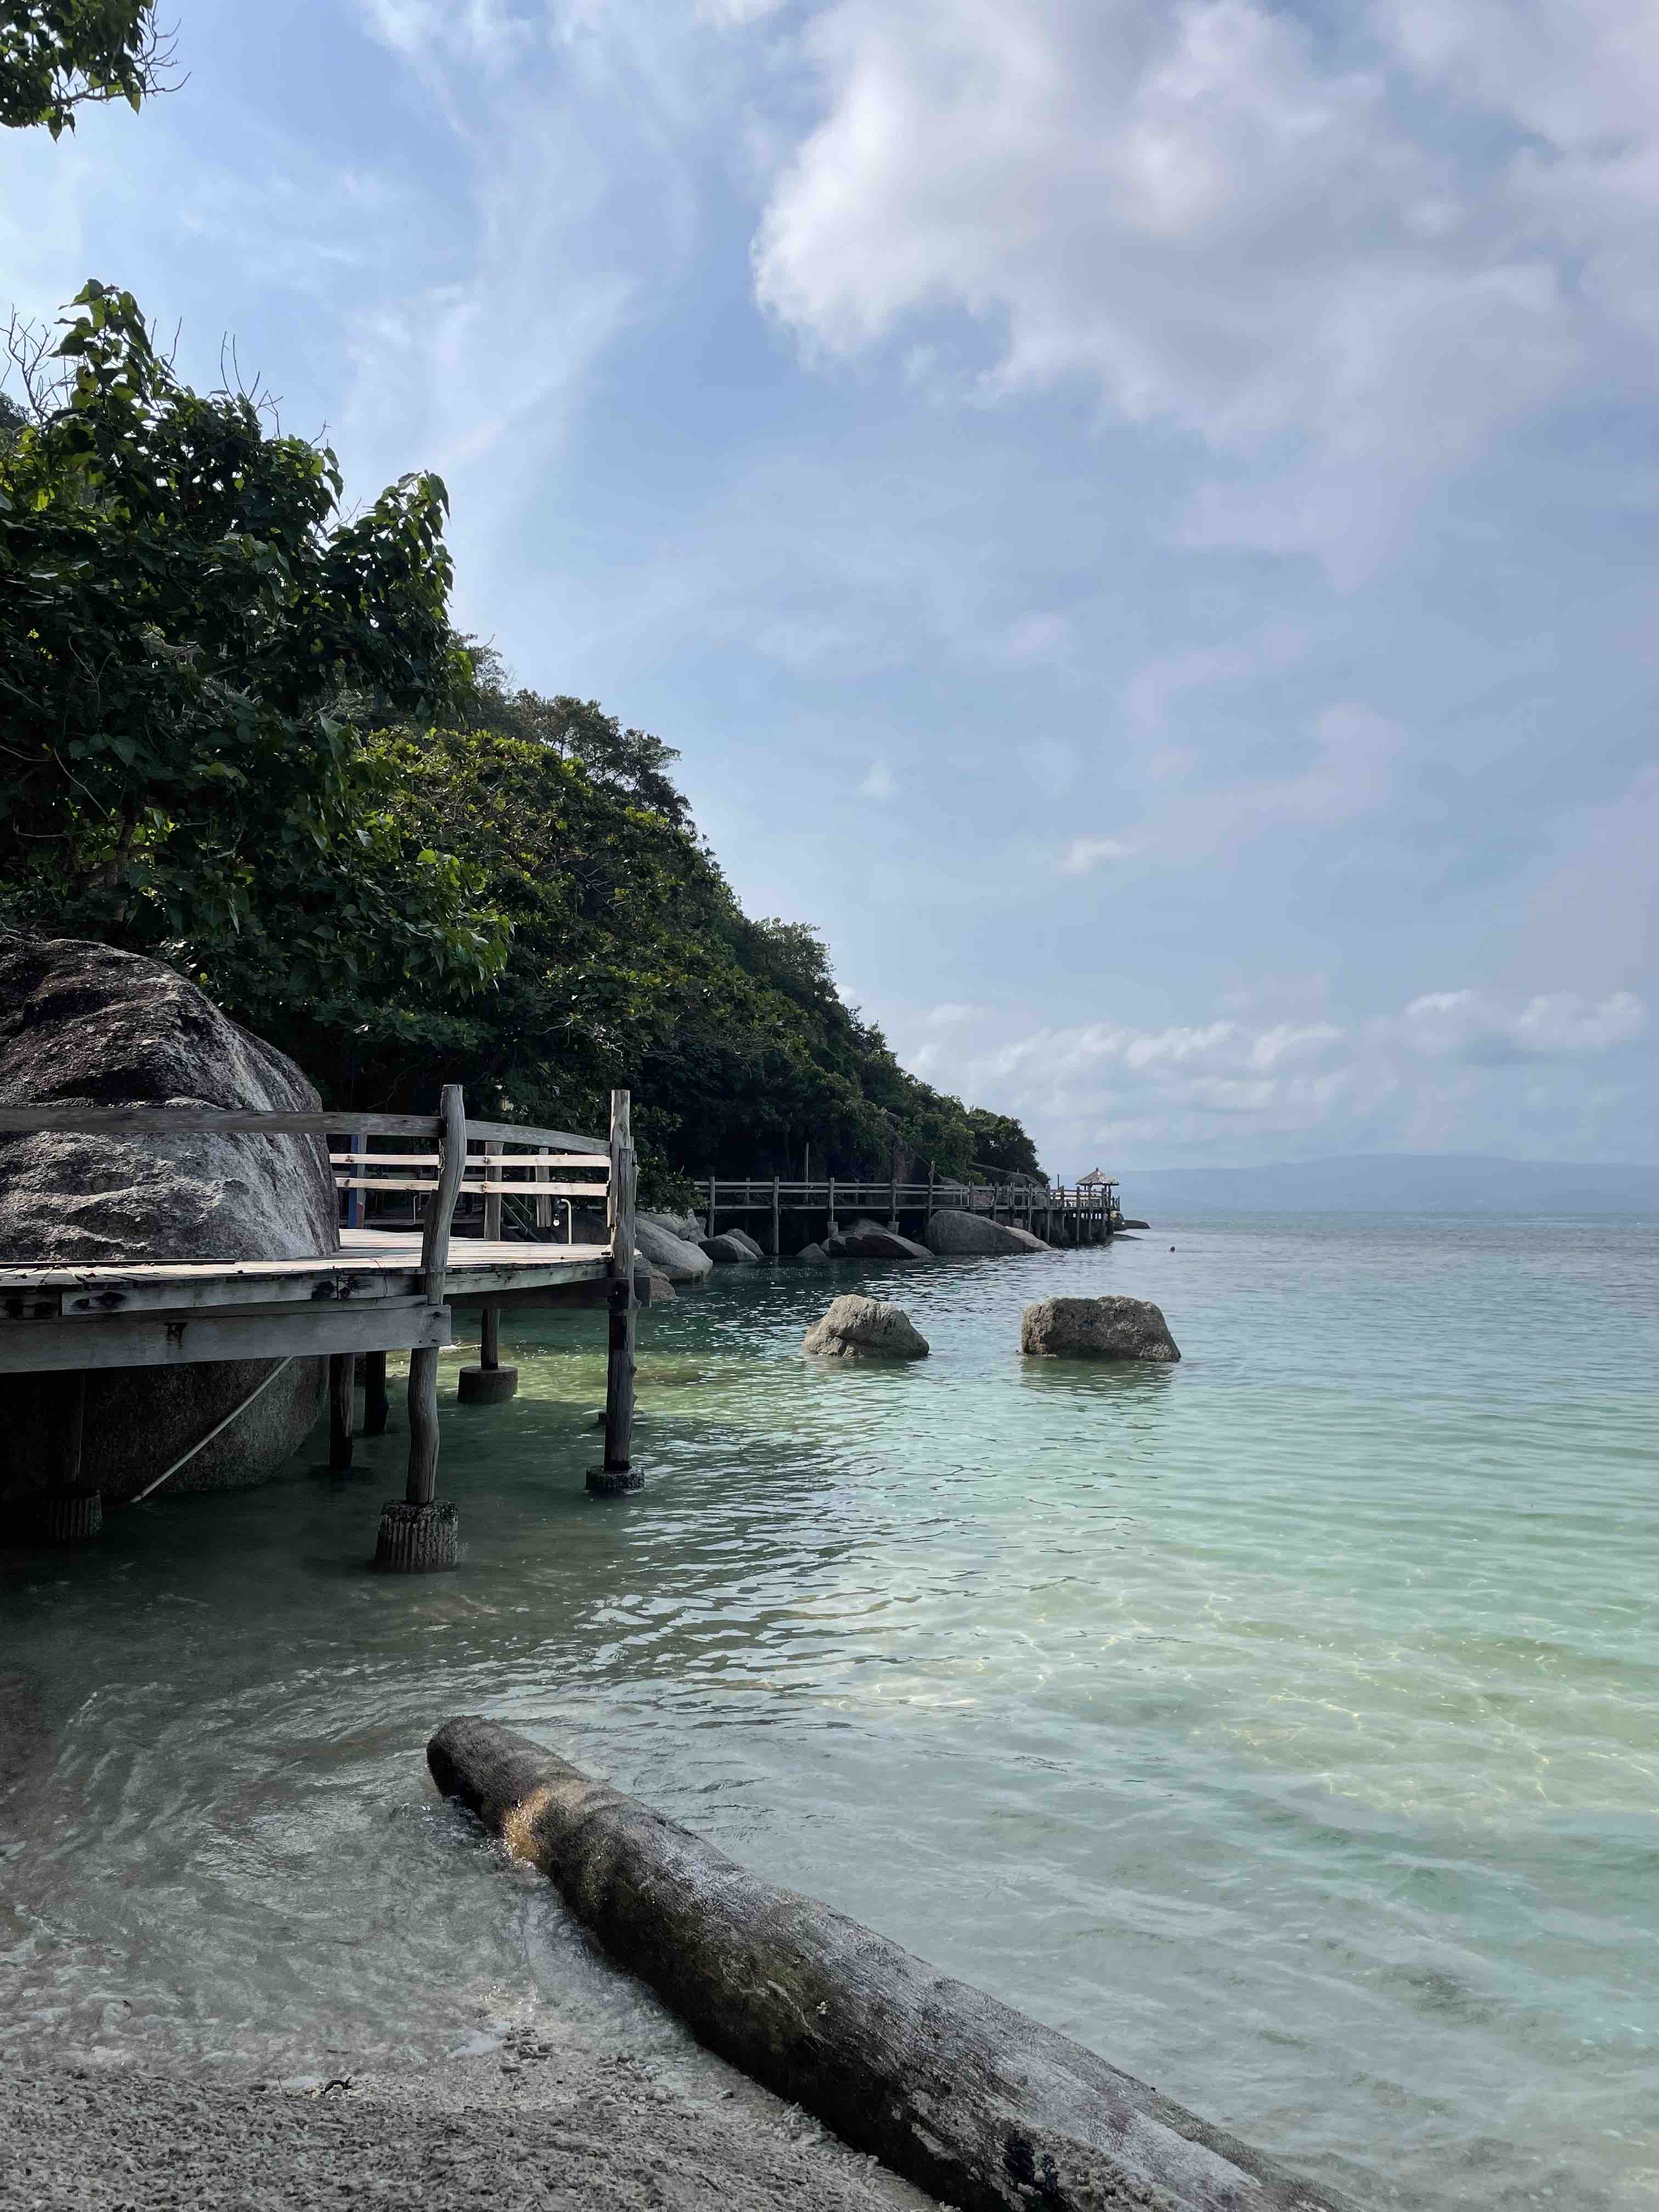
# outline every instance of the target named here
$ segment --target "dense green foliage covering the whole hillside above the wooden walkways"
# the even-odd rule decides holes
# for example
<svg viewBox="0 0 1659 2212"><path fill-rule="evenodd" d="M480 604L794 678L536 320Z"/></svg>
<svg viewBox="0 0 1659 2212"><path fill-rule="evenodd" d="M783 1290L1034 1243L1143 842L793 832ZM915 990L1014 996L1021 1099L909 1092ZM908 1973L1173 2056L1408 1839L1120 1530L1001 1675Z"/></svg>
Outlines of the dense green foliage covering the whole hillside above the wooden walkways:
<svg viewBox="0 0 1659 2212"><path fill-rule="evenodd" d="M343 520L330 451L104 285L58 358L0 416L0 920L161 953L336 1106L602 1130L626 1086L657 1197L1035 1172L741 911L668 745L462 648L436 478Z"/></svg>

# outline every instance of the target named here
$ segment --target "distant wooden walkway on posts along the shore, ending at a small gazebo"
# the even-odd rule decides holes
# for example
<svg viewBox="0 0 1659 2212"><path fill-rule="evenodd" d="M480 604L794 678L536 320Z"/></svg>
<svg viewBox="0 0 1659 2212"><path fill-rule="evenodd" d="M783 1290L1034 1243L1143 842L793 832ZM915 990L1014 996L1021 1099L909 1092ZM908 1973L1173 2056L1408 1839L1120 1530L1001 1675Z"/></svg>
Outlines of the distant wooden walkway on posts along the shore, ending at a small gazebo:
<svg viewBox="0 0 1659 2212"><path fill-rule="evenodd" d="M958 1183L929 1175L925 1183L900 1183L896 1177L872 1183L834 1175L805 1181L787 1181L776 1175L770 1179L710 1175L699 1190L703 1234L714 1237L717 1221L730 1225L739 1217L761 1214L763 1225L770 1223L774 1254L783 1250L785 1214L816 1217L830 1237L841 1221L869 1219L885 1228L909 1230L920 1239L933 1214L953 1210L1006 1221L1062 1248L1102 1243L1124 1221L1113 1177L1088 1177L1064 1188L1031 1177ZM741 1225L745 1219L739 1221Z"/></svg>

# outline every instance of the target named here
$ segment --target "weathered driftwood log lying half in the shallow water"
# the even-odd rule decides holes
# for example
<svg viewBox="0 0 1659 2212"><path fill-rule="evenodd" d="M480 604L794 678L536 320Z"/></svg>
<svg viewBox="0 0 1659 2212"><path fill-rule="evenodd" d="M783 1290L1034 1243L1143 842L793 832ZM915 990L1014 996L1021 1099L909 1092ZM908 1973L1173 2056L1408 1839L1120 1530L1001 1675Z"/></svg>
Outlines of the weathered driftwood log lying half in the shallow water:
<svg viewBox="0 0 1659 2212"><path fill-rule="evenodd" d="M511 1728L427 1745L697 2037L962 2212L1336 2212L1082 2044L580 1774Z"/></svg>

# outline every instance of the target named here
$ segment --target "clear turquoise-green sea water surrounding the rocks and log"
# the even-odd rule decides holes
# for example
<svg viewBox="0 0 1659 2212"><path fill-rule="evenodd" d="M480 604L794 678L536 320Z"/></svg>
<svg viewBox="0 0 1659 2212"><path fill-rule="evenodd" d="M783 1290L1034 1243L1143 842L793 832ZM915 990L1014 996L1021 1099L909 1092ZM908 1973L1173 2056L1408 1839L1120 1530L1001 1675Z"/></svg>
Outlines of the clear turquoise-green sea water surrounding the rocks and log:
<svg viewBox="0 0 1659 2212"><path fill-rule="evenodd" d="M1170 1250L1172 1248L1172 1250ZM838 1287L918 1367L814 1367ZM1046 1292L1179 1367L1022 1363ZM1659 1219L1210 1219L721 1272L403 1438L0 1553L0 2046L349 2070L515 2008L675 2062L425 1783L531 1730L1363 2203L1659 2203ZM449 1394L447 1394L449 1396Z"/></svg>

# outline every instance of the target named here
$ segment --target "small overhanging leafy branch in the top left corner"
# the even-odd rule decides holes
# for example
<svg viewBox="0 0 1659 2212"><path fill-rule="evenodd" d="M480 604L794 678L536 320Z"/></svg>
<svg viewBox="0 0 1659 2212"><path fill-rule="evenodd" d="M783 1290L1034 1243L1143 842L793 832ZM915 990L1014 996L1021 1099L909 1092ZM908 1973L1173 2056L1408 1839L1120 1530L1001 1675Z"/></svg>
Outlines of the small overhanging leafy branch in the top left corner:
<svg viewBox="0 0 1659 2212"><path fill-rule="evenodd" d="M75 128L75 108L161 91L155 0L0 0L0 124Z"/></svg>

